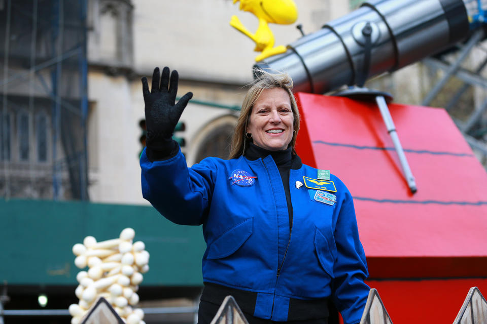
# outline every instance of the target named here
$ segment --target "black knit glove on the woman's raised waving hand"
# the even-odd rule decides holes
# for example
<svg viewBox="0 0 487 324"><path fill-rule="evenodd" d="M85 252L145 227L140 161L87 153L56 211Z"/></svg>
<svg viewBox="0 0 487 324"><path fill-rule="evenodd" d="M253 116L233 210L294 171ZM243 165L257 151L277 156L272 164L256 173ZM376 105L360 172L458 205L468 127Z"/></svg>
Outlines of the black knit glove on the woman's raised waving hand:
<svg viewBox="0 0 487 324"><path fill-rule="evenodd" d="M159 68L154 69L150 92L147 78L142 78L142 92L146 104L147 157L154 161L176 155L179 146L177 142L172 140L172 134L193 94L188 92L178 103L175 103L176 93L178 92L178 71L172 70L169 82L169 68L167 66L162 69L161 77L159 77Z"/></svg>

